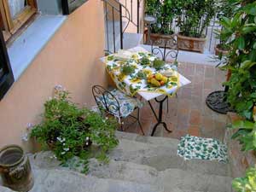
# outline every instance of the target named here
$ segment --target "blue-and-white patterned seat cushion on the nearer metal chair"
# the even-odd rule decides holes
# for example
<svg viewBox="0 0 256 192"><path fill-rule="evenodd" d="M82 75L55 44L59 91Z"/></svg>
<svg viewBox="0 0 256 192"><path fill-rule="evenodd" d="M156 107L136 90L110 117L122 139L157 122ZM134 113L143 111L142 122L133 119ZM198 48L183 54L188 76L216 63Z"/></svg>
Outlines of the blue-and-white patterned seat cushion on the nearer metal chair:
<svg viewBox="0 0 256 192"><path fill-rule="evenodd" d="M143 102L139 101L137 98L126 96L125 93L120 90L111 90L111 94L118 100L120 108L120 117L125 118L130 115L136 108L142 108ZM99 97L103 101L103 96ZM105 98L109 106L109 111L113 115L119 117L119 109L115 108L117 103L113 98ZM104 105L103 105L104 106Z"/></svg>

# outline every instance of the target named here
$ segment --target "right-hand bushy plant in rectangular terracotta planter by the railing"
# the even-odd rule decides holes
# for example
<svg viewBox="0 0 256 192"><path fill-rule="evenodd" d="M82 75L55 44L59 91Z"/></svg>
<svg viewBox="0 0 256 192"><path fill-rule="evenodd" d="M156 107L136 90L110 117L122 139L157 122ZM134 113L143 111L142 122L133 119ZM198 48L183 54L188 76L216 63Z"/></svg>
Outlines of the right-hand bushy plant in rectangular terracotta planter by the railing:
<svg viewBox="0 0 256 192"><path fill-rule="evenodd" d="M205 30L215 15L215 3L208 0L183 0L177 16L177 45L179 49L204 51Z"/></svg>

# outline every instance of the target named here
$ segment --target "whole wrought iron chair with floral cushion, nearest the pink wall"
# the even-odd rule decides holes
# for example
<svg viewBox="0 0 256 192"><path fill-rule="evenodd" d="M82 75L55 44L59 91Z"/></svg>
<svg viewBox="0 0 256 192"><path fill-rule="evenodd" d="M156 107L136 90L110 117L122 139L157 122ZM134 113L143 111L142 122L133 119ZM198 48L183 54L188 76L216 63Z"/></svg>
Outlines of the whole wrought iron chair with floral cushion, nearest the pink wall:
<svg viewBox="0 0 256 192"><path fill-rule="evenodd" d="M137 98L126 96L119 90L106 90L101 85L94 85L92 87L92 94L95 98L96 105L100 109L102 115L113 115L115 118L119 119L119 124L121 126L121 131L124 131L124 126L122 119L126 117L131 117L136 119L131 123L138 123L141 131L144 134L143 126L140 122L140 108L143 107L142 102L137 100ZM137 110L137 116L131 115L132 112ZM131 126L129 125L129 126ZM127 126L127 127L129 127Z"/></svg>

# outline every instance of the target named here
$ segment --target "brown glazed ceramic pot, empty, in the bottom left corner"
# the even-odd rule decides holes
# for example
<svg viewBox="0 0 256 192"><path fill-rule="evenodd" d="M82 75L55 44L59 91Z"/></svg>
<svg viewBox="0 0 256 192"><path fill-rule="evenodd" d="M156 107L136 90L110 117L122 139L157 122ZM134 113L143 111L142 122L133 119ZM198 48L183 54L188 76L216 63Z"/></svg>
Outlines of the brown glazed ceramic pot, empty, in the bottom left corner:
<svg viewBox="0 0 256 192"><path fill-rule="evenodd" d="M0 174L3 185L10 189L22 192L32 189L34 180L29 159L17 145L0 150Z"/></svg>

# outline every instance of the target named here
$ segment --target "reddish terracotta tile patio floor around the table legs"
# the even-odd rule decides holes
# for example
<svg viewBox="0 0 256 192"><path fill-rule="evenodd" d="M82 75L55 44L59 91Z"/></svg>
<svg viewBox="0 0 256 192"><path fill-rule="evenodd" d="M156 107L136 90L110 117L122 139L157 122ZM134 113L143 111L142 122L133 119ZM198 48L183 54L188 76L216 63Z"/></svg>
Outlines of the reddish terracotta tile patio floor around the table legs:
<svg viewBox="0 0 256 192"><path fill-rule="evenodd" d="M225 72L213 66L192 63L181 63L179 72L192 83L179 89L177 97L169 98L169 113L166 113L166 102L164 104L164 119L172 133L166 132L160 125L155 136L179 139L190 134L223 140L226 115L213 112L205 101L213 90L224 90ZM157 106L154 102L154 108L157 109ZM129 119L125 121L127 123ZM156 120L148 104L141 109L141 123L145 134L150 135ZM126 131L141 134L137 125Z"/></svg>

